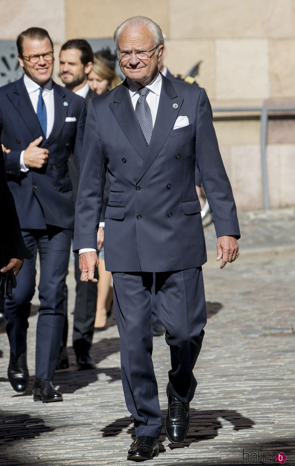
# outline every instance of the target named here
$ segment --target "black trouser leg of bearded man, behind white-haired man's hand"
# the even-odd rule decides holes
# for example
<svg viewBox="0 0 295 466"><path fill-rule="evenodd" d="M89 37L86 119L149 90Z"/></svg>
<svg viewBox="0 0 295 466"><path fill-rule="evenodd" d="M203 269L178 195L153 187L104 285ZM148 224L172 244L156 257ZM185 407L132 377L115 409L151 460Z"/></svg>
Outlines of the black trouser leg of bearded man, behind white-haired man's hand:
<svg viewBox="0 0 295 466"><path fill-rule="evenodd" d="M95 278L98 278L97 269ZM74 309L73 348L84 352L90 349L96 315L97 283L80 281L79 256L75 254L76 302Z"/></svg>

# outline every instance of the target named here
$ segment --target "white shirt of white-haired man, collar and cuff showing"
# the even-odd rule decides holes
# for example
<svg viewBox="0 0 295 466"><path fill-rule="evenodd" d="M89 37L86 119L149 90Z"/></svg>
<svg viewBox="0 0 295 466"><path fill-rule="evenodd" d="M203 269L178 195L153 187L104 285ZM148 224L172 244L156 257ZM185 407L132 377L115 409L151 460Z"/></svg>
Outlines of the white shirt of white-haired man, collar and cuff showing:
<svg viewBox="0 0 295 466"><path fill-rule="evenodd" d="M142 86L136 86L127 78L127 84L128 84L128 89L130 93L130 98L131 102L135 111L136 103L139 98L138 94L138 89L141 88ZM152 118L152 124L153 126L155 125L156 117L157 117L157 112L158 112L158 105L159 105L159 100L160 100L160 92L161 92L161 87L162 87L162 78L160 73L157 74L157 76L145 87L150 89L150 92L146 96L146 102L149 104L150 109L151 109L151 118ZM81 89L80 89L81 90ZM99 224L101 226L102 224ZM83 249L79 249L79 254L82 253L88 253L90 251L96 251L96 249L92 249L90 247L86 247Z"/></svg>

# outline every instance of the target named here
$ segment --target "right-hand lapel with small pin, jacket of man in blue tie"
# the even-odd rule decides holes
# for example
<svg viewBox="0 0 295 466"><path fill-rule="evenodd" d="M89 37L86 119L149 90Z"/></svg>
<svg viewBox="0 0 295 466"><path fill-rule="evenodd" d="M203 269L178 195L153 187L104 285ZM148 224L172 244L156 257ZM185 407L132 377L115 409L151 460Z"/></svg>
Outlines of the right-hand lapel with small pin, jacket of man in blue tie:
<svg viewBox="0 0 295 466"><path fill-rule="evenodd" d="M53 83L53 93L54 93L54 123L51 133L48 136L48 139L44 141L42 147L49 147L60 135L62 128L66 121L66 116L69 109L69 102L71 98L66 96L62 86L58 86ZM67 105L64 105L67 103Z"/></svg>

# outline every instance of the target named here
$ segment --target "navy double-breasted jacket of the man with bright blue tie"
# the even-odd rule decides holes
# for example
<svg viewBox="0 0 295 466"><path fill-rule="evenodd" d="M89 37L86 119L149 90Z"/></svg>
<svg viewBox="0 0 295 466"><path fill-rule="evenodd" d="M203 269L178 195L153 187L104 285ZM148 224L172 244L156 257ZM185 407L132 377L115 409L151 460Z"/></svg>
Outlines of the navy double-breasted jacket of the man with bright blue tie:
<svg viewBox="0 0 295 466"><path fill-rule="evenodd" d="M14 196L22 229L47 225L73 228L74 203L67 159L72 151L80 167L86 120L84 99L53 83L55 117L51 134L46 139L24 85L23 77L0 88L0 135L7 181ZM75 121L67 121L71 117ZM41 169L20 169L21 151L43 136L41 147L48 149L48 163ZM41 208L40 208L41 207Z"/></svg>

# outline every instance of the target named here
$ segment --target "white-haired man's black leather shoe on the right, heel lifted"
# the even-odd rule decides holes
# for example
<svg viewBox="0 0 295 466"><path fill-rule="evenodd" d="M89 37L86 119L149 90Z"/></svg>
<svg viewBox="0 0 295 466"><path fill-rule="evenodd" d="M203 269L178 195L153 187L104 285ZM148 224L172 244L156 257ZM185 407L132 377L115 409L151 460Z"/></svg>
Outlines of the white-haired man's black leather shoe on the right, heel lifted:
<svg viewBox="0 0 295 466"><path fill-rule="evenodd" d="M167 397L168 414L165 419L165 432L170 442L180 443L185 439L190 426L190 404L173 397L171 392L168 391L168 385Z"/></svg>

